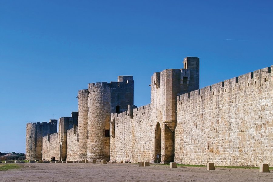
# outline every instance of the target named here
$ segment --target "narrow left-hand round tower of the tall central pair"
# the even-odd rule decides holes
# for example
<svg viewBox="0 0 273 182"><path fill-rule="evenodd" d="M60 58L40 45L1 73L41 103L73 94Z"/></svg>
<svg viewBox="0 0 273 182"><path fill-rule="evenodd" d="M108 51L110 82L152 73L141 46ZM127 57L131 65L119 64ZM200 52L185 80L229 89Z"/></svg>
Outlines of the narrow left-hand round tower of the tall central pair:
<svg viewBox="0 0 273 182"><path fill-rule="evenodd" d="M87 159L88 89L78 91L79 160Z"/></svg>

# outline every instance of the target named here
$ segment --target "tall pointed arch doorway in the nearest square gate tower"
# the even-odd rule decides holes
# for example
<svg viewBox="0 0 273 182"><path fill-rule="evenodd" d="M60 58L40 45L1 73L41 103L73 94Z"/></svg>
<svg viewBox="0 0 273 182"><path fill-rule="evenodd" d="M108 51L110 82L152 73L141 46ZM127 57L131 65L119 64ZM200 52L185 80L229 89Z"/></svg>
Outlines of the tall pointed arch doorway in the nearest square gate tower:
<svg viewBox="0 0 273 182"><path fill-rule="evenodd" d="M157 122L154 133L154 163L161 162L161 142L161 127L159 122Z"/></svg>

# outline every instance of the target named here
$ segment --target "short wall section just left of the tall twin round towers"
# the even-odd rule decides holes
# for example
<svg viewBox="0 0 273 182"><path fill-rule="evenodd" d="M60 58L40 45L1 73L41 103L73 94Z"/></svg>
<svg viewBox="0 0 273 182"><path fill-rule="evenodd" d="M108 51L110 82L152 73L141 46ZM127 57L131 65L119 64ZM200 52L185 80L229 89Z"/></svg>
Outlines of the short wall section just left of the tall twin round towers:
<svg viewBox="0 0 273 182"><path fill-rule="evenodd" d="M79 142L77 137L77 127L67 130L67 157L66 160L79 160ZM86 151L87 152L87 151ZM87 155L87 153L86 153Z"/></svg>

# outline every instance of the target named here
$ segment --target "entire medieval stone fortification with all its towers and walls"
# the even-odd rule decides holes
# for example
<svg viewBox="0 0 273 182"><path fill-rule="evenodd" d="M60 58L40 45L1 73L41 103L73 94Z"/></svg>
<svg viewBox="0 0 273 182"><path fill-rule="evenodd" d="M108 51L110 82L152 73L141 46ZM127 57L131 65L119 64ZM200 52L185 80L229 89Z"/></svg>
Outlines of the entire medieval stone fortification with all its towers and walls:
<svg viewBox="0 0 273 182"><path fill-rule="evenodd" d="M133 76L89 83L58 133L57 120L27 123L27 159L273 166L273 66L202 89L199 58L183 66L154 73L140 107Z"/></svg>

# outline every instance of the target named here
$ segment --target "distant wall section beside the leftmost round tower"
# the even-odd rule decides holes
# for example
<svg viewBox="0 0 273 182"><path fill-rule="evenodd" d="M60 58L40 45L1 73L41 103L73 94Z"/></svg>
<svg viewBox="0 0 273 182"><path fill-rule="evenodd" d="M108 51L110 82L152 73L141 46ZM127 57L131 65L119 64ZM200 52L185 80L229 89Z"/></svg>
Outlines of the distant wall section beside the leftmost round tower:
<svg viewBox="0 0 273 182"><path fill-rule="evenodd" d="M52 156L55 157L55 160L60 160L60 142L58 133L43 137L42 159L50 161Z"/></svg>

